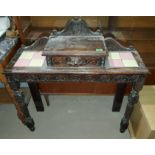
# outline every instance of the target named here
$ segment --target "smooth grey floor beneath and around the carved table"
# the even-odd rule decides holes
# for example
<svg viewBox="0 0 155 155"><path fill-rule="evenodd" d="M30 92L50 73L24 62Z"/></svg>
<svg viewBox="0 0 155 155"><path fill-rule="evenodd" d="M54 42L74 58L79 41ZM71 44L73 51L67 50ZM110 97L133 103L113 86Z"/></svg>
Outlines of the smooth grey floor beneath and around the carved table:
<svg viewBox="0 0 155 155"><path fill-rule="evenodd" d="M128 130L119 132L127 99L120 112L112 112L113 96L50 95L50 106L36 112L33 101L29 109L35 120L34 132L24 126L13 105L0 105L0 138L5 139L129 139ZM44 98L43 98L44 101Z"/></svg>

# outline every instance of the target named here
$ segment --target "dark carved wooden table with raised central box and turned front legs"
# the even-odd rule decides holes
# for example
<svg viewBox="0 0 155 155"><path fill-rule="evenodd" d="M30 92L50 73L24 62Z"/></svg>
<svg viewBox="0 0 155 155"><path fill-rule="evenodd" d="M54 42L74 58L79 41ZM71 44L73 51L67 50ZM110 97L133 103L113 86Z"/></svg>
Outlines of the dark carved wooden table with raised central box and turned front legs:
<svg viewBox="0 0 155 155"><path fill-rule="evenodd" d="M93 46L89 44L90 41ZM17 67L15 64L21 55L30 51L33 53L43 51L43 55L46 56L45 63L39 67ZM126 66L123 67L117 66L118 63L116 66L111 65L110 59L112 57L117 59L118 52L120 55L124 55L124 53L132 55L136 64L133 65L129 63L130 61L126 61L124 63ZM99 32L92 32L83 20L73 19L62 31L54 31L49 38L40 38L31 46L19 49L6 68L5 74L18 101L16 106L19 119L31 131L35 130L34 121L29 113L27 103L24 102L24 93L20 89L20 82L31 83L34 86L38 82L57 81L113 82L122 85L130 83L132 90L128 96L128 104L120 124L120 132L124 132L128 127L134 105L138 102L139 91L143 87L148 69L134 48L126 48L113 38L102 38ZM33 96L39 94L37 89L33 93ZM117 98L117 96L119 96L119 92L115 97ZM39 98L39 100L41 99ZM36 107L39 107L38 109L43 110L41 102L35 104ZM116 104L115 101L114 104Z"/></svg>

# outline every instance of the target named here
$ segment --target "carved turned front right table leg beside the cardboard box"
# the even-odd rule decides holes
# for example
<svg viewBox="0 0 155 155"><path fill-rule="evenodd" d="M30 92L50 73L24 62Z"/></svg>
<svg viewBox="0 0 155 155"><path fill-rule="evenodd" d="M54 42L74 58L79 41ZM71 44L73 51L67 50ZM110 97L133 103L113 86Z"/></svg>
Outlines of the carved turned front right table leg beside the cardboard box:
<svg viewBox="0 0 155 155"><path fill-rule="evenodd" d="M139 100L139 91L142 89L144 78L133 84L132 90L128 96L128 104L124 113L124 117L121 120L120 132L124 132L128 128L129 119L132 114L134 105Z"/></svg>

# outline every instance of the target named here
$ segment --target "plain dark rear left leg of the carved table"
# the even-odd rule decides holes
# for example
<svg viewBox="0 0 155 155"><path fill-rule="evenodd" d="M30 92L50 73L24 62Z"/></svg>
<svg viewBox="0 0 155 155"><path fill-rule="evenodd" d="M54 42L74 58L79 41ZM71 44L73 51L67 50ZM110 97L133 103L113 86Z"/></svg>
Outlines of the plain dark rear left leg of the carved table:
<svg viewBox="0 0 155 155"><path fill-rule="evenodd" d="M38 85L35 82L29 82L28 83L30 92L34 101L34 104L36 106L37 111L44 111L44 105L41 99L40 92L38 90Z"/></svg>

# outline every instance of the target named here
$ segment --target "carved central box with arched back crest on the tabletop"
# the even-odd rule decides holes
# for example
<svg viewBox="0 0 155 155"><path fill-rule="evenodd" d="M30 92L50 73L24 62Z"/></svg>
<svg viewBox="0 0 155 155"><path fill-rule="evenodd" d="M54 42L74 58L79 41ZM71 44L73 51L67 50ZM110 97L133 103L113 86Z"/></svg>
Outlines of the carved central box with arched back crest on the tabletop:
<svg viewBox="0 0 155 155"><path fill-rule="evenodd" d="M49 66L92 67L103 65L107 52L103 35L91 31L83 19L73 18L62 31L53 31L43 55Z"/></svg>

